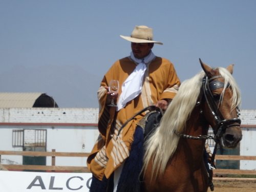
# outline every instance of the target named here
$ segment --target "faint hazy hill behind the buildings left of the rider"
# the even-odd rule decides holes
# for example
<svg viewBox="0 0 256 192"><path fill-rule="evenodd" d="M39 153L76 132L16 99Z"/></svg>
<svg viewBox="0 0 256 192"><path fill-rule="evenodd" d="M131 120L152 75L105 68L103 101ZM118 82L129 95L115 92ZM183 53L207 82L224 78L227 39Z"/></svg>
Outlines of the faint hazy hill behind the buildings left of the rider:
<svg viewBox="0 0 256 192"><path fill-rule="evenodd" d="M0 92L44 92L60 108L98 108L101 79L79 66L15 66L0 73Z"/></svg>

